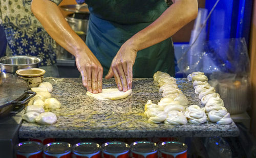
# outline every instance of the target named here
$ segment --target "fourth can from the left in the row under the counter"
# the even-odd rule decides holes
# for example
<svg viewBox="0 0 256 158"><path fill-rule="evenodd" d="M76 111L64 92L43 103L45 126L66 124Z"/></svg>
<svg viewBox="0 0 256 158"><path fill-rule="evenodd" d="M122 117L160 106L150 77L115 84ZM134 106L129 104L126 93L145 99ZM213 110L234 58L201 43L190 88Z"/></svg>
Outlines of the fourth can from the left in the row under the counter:
<svg viewBox="0 0 256 158"><path fill-rule="evenodd" d="M101 145L102 158L128 158L130 147L124 142L108 142Z"/></svg>

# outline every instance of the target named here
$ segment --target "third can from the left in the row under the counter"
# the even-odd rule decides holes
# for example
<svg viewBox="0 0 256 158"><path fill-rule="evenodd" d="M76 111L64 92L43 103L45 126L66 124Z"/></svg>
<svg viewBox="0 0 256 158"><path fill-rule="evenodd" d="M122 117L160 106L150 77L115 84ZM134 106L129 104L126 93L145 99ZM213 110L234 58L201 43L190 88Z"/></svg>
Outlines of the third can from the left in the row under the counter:
<svg viewBox="0 0 256 158"><path fill-rule="evenodd" d="M101 158L100 145L93 142L77 143L72 151L76 158Z"/></svg>

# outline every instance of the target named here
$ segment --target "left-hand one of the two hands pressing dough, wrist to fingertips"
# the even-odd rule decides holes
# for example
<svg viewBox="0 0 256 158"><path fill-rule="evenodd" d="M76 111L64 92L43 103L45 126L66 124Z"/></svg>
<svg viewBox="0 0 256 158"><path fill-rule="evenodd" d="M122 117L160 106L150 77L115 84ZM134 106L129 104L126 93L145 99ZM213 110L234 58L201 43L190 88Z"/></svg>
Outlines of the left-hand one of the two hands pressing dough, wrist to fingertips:
<svg viewBox="0 0 256 158"><path fill-rule="evenodd" d="M76 66L82 76L82 84L91 93L102 92L103 67L98 59L90 51L77 53Z"/></svg>

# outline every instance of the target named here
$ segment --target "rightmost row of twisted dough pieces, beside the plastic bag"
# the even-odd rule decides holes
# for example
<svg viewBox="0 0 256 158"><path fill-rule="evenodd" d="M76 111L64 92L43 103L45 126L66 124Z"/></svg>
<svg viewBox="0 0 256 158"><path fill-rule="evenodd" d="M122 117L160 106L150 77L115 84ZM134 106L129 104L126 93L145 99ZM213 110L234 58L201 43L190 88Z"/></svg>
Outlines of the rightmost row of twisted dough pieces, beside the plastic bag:
<svg viewBox="0 0 256 158"><path fill-rule="evenodd" d="M205 107L206 115L209 121L217 124L229 124L232 122L230 114L224 107L224 102L220 95L216 93L215 88L207 82L208 78L203 72L193 72L187 76L188 81L192 81L195 93ZM192 106L192 105L191 105Z"/></svg>

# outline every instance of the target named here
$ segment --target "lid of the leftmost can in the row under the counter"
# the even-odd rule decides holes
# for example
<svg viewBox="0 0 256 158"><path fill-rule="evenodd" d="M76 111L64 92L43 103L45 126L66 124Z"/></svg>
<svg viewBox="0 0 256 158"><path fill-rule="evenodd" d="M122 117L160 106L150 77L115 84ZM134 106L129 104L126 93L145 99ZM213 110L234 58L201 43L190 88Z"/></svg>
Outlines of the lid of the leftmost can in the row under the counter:
<svg viewBox="0 0 256 158"><path fill-rule="evenodd" d="M15 146L15 151L17 153L34 153L42 151L43 145L39 142L27 141L19 143Z"/></svg>

